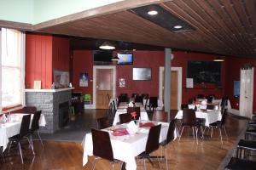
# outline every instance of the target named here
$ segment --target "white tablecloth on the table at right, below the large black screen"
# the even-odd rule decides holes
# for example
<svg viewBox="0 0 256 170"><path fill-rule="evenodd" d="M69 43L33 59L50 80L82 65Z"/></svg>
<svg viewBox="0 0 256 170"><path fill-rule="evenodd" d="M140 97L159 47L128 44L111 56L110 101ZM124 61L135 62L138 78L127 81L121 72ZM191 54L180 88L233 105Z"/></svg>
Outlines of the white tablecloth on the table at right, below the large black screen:
<svg viewBox="0 0 256 170"><path fill-rule="evenodd" d="M204 118L206 119L205 126L209 127L212 122L221 121L221 112L214 111L214 110L207 110L207 111L195 111L196 118ZM177 115L175 116L176 119L183 118L183 111L177 111Z"/></svg>

